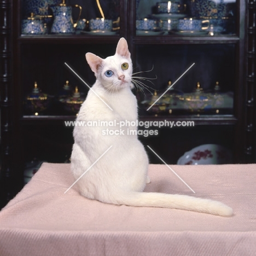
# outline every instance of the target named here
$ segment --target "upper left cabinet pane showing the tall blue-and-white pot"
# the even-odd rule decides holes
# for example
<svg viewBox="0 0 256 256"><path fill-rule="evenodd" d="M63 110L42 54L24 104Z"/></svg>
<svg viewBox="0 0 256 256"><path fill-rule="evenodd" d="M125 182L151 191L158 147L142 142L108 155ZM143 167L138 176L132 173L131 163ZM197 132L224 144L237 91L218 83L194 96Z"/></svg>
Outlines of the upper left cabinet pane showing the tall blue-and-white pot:
<svg viewBox="0 0 256 256"><path fill-rule="evenodd" d="M23 0L22 36L112 36L120 30L119 0Z"/></svg>

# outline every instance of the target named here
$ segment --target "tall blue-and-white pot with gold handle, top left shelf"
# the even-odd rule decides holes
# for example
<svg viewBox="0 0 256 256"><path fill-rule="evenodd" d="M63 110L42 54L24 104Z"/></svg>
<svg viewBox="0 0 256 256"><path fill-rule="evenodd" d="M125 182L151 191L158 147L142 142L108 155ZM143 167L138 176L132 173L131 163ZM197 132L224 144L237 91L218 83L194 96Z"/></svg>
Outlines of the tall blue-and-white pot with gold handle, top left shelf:
<svg viewBox="0 0 256 256"><path fill-rule="evenodd" d="M54 22L51 27L51 33L53 34L72 34L75 32L75 27L78 24L80 15L82 13L82 7L80 5L67 5L65 0L61 4L51 6L54 14ZM79 15L76 22L72 19L72 8L79 8Z"/></svg>

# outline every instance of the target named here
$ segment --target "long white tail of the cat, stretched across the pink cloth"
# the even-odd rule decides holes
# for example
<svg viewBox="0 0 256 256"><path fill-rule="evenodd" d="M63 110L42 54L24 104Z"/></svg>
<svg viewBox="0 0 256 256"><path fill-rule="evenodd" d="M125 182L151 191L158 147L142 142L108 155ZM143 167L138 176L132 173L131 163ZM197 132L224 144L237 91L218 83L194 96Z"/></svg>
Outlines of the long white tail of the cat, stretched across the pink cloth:
<svg viewBox="0 0 256 256"><path fill-rule="evenodd" d="M177 208L220 216L231 216L233 214L232 208L224 205L222 202L187 195L132 192L129 195L121 196L118 200L118 204L129 206Z"/></svg>

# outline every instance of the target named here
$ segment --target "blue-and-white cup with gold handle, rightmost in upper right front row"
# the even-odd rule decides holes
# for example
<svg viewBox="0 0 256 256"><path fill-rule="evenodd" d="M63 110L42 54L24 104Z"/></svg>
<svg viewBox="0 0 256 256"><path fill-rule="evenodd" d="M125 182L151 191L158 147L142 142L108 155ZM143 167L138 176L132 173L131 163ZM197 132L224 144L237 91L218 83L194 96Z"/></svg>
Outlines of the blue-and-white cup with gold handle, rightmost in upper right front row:
<svg viewBox="0 0 256 256"><path fill-rule="evenodd" d="M209 20L201 20L194 18L184 18L178 20L178 31L202 31L209 27Z"/></svg>

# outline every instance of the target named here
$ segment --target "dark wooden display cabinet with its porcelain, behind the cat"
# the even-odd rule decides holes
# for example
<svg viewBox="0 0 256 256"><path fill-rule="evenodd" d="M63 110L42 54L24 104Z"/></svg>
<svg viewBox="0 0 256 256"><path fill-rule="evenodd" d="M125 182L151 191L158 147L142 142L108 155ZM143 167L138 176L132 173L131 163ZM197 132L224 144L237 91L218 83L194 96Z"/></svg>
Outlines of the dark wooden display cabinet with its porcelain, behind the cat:
<svg viewBox="0 0 256 256"><path fill-rule="evenodd" d="M177 164L202 144L224 146L234 163L255 162L255 0L184 0L177 5L109 0L100 1L100 8L92 0L35 2L46 7L77 4L82 13L74 30L59 24L56 32L52 28L60 9L43 13L45 5L39 8L30 0L0 1L2 205L22 188L27 162L69 160L72 127L65 121L75 120L88 88L65 63L92 85L85 53L113 55L120 37L129 43L134 77L147 79L134 78L139 120L194 122L193 127L161 127L157 136L139 136L145 146L168 164ZM78 18L79 8L65 11ZM112 20L113 30L90 31L90 20L102 13ZM32 22L35 27L29 27ZM68 105L67 94L78 106ZM148 154L150 162L161 163L150 150Z"/></svg>

